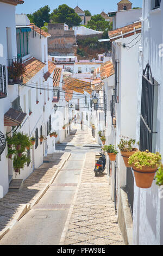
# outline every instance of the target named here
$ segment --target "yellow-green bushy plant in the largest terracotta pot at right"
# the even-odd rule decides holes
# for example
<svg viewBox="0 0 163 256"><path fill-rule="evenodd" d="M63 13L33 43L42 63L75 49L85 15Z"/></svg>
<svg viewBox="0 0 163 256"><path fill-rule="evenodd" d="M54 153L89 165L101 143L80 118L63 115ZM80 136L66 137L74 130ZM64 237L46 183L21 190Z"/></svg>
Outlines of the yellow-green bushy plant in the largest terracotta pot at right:
<svg viewBox="0 0 163 256"><path fill-rule="evenodd" d="M137 151L135 154L129 157L128 163L138 169L142 167L158 167L161 162L160 153L151 153L148 150L141 152Z"/></svg>

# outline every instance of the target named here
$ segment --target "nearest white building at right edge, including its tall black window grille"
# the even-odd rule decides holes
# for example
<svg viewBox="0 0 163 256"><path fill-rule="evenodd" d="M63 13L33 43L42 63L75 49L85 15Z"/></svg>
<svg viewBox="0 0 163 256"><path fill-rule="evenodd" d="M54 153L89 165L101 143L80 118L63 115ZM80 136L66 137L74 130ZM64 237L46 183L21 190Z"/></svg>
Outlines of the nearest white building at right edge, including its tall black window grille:
<svg viewBox="0 0 163 256"><path fill-rule="evenodd" d="M140 150L149 149L153 153L158 151L163 156L163 119L162 119L162 1L143 1L142 8L142 44L139 47L139 83L137 90L137 125L136 137L140 141ZM147 69L146 69L147 68ZM143 70L145 70L143 72ZM149 70L148 70L149 69ZM151 69L151 71L150 71ZM147 77L149 71L149 78ZM144 76L143 76L144 74ZM154 81L152 80L152 77ZM153 83L153 82L154 83ZM141 95L144 94L143 88L146 83L146 96L152 96L154 101L142 101ZM153 84L159 84L153 85ZM142 107L141 107L142 103ZM142 114L145 103L147 109L152 109L153 119L149 129L145 126L142 133ZM147 106L147 105L146 105ZM142 118L140 118L140 114ZM146 112L145 112L146 114ZM146 120L147 122L149 120ZM146 124L146 122L145 122ZM156 133L151 133L151 131ZM151 138L146 137L151 134ZM142 145L144 138L145 144ZM162 245L163 244L163 222L162 222L163 201L160 188L153 181L151 188L138 188L134 186L134 245Z"/></svg>

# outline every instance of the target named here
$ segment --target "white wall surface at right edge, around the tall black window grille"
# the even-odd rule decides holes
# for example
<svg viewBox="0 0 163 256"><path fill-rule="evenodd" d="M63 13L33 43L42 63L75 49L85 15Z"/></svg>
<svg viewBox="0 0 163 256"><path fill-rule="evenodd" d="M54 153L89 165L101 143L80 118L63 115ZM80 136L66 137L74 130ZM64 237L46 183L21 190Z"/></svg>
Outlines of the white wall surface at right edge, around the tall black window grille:
<svg viewBox="0 0 163 256"><path fill-rule="evenodd" d="M137 111L141 108L142 70L148 61L152 76L160 86L158 87L158 113L156 118L156 134L153 147L163 156L163 119L162 119L162 26L163 2L160 8L154 8L155 1L143 1L142 9L142 44L139 48L139 87L137 97ZM137 115L136 137L140 134L140 116ZM134 245L162 245L163 244L163 200L162 193L155 181L152 187L143 189L134 187Z"/></svg>

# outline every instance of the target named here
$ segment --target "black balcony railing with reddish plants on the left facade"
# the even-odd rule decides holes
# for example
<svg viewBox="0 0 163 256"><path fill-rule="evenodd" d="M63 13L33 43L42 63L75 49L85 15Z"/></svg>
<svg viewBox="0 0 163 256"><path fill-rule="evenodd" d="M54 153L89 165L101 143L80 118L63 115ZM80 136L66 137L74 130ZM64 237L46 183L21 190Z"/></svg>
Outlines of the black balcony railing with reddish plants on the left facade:
<svg viewBox="0 0 163 256"><path fill-rule="evenodd" d="M22 58L8 59L8 84L21 84L23 82Z"/></svg>

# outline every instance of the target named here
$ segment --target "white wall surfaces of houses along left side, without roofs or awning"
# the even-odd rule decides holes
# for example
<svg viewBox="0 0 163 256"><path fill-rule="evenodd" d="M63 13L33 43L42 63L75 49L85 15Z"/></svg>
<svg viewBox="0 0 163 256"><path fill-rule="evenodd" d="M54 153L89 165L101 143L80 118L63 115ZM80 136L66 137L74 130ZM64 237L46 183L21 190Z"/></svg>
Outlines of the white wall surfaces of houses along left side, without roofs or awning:
<svg viewBox="0 0 163 256"><path fill-rule="evenodd" d="M9 181L11 179L26 179L34 170L34 168L39 167L43 162L43 156L47 154L51 154L55 151L55 142L58 139L63 140L67 134L65 131L60 131L59 126L56 124L55 119L57 118L57 113L54 113L54 104L53 100L53 72L52 74L45 80L43 77L48 71L48 53L47 53L47 38L45 36L40 36L40 34L33 32L28 32L28 54L22 54L22 61L26 63L26 60L35 57L40 60L45 66L38 71L35 75L33 75L28 82L25 84L14 84L8 85L8 71L7 66L8 58L13 58L17 56L17 50L20 45L19 42L16 41L16 29L20 28L21 20L23 23L23 27L27 27L29 20L24 18L24 15L18 17L18 25L16 26L15 22L15 6L10 4L0 3L0 21L1 21L1 36L0 44L3 45L3 54L0 57L0 64L6 66L6 74L7 74L7 97L4 99L0 99L0 131L3 135L10 132L12 127L4 127L4 114L12 107L12 102L19 96L20 97L20 106L24 113L27 113L24 118L21 126L17 129L23 133L26 133L29 137L36 137L36 131L38 134L38 144L33 146L30 149L30 164L24 169L21 169L20 174L15 173L12 160L7 159L7 151L8 147L5 147L1 155L0 161L0 198L3 198L4 195L8 192ZM26 23L27 21L27 23ZM24 24L24 22L26 24ZM8 38L7 38L8 35ZM62 76L61 76L62 79ZM60 83L61 87L61 83ZM68 111L67 105L65 103L65 94L61 97L65 106L64 109L64 118L65 121L68 121ZM59 103L61 104L61 102ZM63 112L63 111L62 111ZM51 119L51 120L50 120ZM62 121L62 116L59 119L59 123ZM52 127L50 126L52 125ZM41 127L42 127L42 135L45 137L43 142L40 142L41 135ZM58 138L50 137L50 131L57 131L58 129ZM15 129L16 130L16 127ZM12 136L12 132L9 133Z"/></svg>

